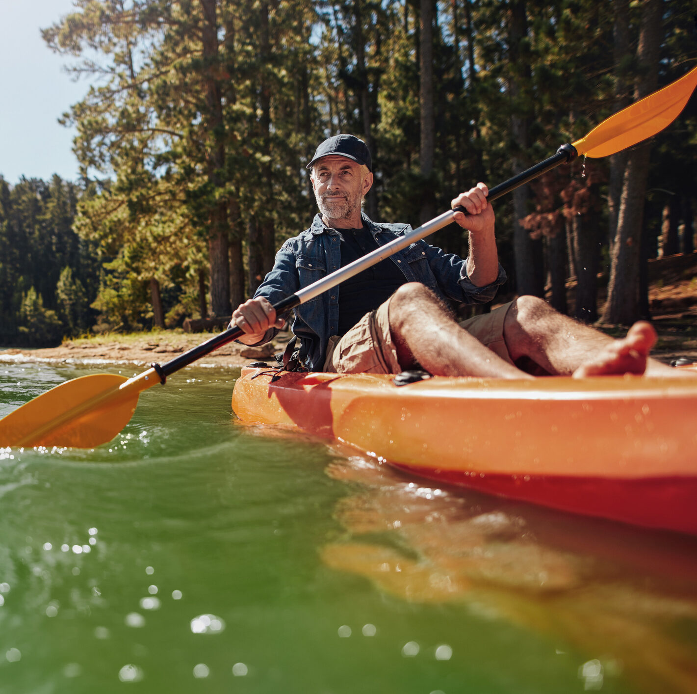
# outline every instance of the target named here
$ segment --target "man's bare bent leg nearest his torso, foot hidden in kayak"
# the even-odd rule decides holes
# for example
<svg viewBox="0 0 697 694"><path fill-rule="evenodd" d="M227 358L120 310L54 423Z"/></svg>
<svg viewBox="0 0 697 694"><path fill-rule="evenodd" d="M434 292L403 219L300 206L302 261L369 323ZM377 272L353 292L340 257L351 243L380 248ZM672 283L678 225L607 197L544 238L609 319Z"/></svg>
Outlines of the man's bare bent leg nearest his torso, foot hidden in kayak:
<svg viewBox="0 0 697 694"><path fill-rule="evenodd" d="M418 363L436 376L530 378L461 329L419 282L402 285L392 295L390 333L403 369Z"/></svg>

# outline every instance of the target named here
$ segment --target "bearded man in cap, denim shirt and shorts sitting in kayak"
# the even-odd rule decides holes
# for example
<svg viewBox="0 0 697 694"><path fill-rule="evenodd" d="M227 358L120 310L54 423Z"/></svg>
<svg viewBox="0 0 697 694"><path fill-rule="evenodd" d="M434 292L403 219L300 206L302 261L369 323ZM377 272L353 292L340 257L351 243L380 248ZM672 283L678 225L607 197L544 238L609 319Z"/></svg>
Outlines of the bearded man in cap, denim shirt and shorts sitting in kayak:
<svg viewBox="0 0 697 694"><path fill-rule="evenodd" d="M254 299L240 304L231 324L240 342L261 345L284 321L273 303L411 229L378 224L361 212L373 183L362 140L335 135L307 165L320 213L286 241ZM498 263L494 213L478 183L452 200L454 221L468 229L462 260L417 241L296 308L293 333L310 370L398 373L421 367L434 375L532 378L530 372L577 377L674 371L648 353L656 333L646 322L612 340L556 312L542 299L520 296L489 314L458 324L449 303L491 301L505 271ZM526 366L526 371L519 368Z"/></svg>

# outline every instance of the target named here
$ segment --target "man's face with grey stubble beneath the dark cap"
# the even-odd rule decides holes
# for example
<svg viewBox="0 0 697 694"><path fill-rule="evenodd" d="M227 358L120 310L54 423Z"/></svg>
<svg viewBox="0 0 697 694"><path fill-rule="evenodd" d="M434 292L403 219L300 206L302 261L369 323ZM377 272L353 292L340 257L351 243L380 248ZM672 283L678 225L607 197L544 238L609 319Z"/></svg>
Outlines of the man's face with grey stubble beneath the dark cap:
<svg viewBox="0 0 697 694"><path fill-rule="evenodd" d="M358 163L346 157L328 155L315 165L312 188L319 210L328 219L349 218L358 213L372 175L362 176Z"/></svg>

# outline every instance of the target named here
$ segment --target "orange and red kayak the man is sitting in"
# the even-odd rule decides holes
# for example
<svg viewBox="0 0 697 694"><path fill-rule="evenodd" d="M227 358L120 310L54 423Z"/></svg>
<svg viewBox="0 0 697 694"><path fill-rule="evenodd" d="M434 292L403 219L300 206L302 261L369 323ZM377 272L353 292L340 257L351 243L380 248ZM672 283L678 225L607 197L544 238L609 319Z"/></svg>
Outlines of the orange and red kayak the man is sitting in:
<svg viewBox="0 0 697 694"><path fill-rule="evenodd" d="M232 407L439 483L697 534L697 378L395 380L252 365Z"/></svg>

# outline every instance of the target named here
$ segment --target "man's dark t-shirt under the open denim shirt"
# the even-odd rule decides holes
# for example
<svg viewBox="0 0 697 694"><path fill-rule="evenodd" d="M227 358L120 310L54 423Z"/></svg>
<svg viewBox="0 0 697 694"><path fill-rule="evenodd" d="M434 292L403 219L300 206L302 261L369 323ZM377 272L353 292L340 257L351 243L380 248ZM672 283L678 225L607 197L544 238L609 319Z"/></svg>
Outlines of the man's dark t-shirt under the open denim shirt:
<svg viewBox="0 0 697 694"><path fill-rule="evenodd" d="M378 248L369 229L335 229L339 234L341 266L344 267ZM339 286L339 330L345 335L369 311L387 301L406 277L390 258L342 282Z"/></svg>

